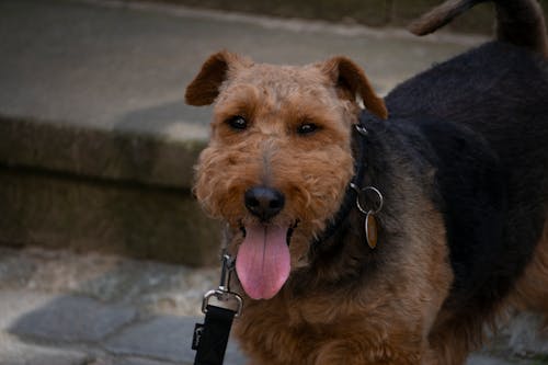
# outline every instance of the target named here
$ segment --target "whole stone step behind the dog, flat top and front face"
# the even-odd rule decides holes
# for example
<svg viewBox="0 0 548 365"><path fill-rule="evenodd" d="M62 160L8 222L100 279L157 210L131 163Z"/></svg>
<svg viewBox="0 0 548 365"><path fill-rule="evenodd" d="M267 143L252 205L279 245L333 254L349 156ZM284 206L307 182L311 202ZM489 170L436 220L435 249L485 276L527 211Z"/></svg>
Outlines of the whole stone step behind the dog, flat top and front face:
<svg viewBox="0 0 548 365"><path fill-rule="evenodd" d="M482 39L146 2L1 1L0 242L214 263L219 229L191 193L212 111L183 103L209 54L343 54L385 93Z"/></svg>

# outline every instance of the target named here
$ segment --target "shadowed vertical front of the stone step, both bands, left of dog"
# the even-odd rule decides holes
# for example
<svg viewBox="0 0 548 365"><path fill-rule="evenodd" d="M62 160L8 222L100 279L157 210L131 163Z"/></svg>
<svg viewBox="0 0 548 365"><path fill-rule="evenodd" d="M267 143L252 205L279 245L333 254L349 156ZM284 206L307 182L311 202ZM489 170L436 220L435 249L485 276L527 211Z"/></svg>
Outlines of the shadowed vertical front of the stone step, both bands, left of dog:
<svg viewBox="0 0 548 365"><path fill-rule="evenodd" d="M217 224L191 194L204 140L21 118L0 136L0 242L217 262Z"/></svg>

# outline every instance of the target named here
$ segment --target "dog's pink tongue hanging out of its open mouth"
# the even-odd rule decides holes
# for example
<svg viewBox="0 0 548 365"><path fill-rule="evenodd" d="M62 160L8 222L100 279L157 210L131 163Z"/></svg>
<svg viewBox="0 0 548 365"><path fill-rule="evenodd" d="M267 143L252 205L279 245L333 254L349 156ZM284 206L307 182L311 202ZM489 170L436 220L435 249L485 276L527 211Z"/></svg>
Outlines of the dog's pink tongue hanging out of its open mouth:
<svg viewBox="0 0 548 365"><path fill-rule="evenodd" d="M236 271L246 293L253 299L270 299L289 276L287 229L273 226L246 227L238 250Z"/></svg>

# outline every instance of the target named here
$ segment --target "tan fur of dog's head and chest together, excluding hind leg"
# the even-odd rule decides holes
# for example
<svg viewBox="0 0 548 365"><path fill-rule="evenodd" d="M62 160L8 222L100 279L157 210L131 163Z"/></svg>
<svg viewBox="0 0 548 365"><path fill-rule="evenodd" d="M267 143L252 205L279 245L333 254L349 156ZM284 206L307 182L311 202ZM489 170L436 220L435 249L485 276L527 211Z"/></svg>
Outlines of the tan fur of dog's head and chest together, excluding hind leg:
<svg viewBox="0 0 548 365"><path fill-rule="evenodd" d="M220 75L227 78L221 83ZM298 217L290 246L292 266L306 272L310 237L336 212L353 174L349 140L351 126L357 122L355 95L379 117L387 116L384 103L363 71L343 57L297 68L255 65L222 52L204 64L187 89L186 101L195 105L210 102L214 84L219 94L212 142L197 166L196 196L214 217L230 224L235 239L229 249L236 255L241 221L254 219L242 205L244 190L269 184L283 191L288 204L275 219L288 225ZM231 115L253 121L244 137L226 125ZM308 119L321 126L321 135L295 135L298 124ZM338 173L326 173L333 166ZM447 295L452 274L446 249L432 244L444 240L442 218L422 194L410 187L400 202L412 202L413 208L402 207L401 212L421 215L425 226L416 225L413 217L406 219L409 236L392 244L409 249L393 262L392 270L387 270L387 276L364 286L359 298L350 296L346 286L329 293L322 287L350 272L353 251L363 250L357 239L349 242L353 249L339 264L302 274L310 278L309 294L295 295L299 284L289 282L269 301L248 298L236 333L253 361L336 364L349 362L347 355L353 353L353 364L416 364L430 356L427 333ZM385 218L384 230L399 231L398 225ZM409 240L414 243L409 244ZM438 249L432 251L432 247Z"/></svg>

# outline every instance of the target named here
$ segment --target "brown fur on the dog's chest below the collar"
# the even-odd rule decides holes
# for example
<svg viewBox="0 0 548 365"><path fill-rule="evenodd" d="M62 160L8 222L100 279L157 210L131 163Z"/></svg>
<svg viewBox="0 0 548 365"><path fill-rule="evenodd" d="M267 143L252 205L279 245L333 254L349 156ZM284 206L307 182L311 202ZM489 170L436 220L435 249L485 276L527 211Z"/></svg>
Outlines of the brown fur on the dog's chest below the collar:
<svg viewBox="0 0 548 365"><path fill-rule="evenodd" d="M435 244L445 235L441 216L429 202L419 204L423 210L415 213L424 217L426 226L407 220L410 237L391 244L409 249L383 276L364 283L357 297L345 286L338 289L327 283L352 270L351 256L363 251L359 240L347 242L352 249L333 272L299 272L300 276L312 276L306 295L295 295L300 292L295 287L298 283L289 282L269 301L246 300L246 319L237 322L236 334L243 340L242 349L252 363L419 364L434 357L427 334L448 293L452 274L447 252ZM400 229L390 225L385 220L384 230ZM432 247L439 250L432 252ZM423 270L425 262L427 271Z"/></svg>

